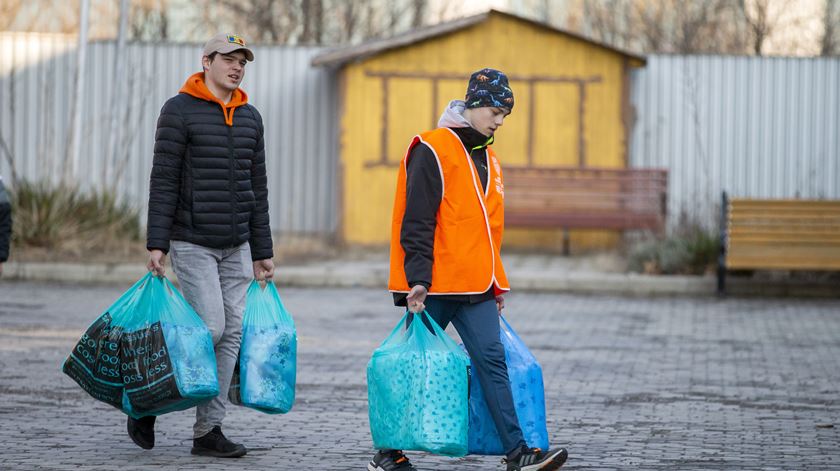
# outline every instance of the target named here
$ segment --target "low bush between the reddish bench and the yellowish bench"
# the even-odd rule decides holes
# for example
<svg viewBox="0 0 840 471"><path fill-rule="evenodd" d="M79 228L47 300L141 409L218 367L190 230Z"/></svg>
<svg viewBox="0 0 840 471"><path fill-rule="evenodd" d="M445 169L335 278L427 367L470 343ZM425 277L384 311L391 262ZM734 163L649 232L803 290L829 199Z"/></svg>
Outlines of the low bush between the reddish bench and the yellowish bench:
<svg viewBox="0 0 840 471"><path fill-rule="evenodd" d="M632 247L628 267L639 273L702 275L715 268L719 250L715 232L698 224L683 225L673 235Z"/></svg>

